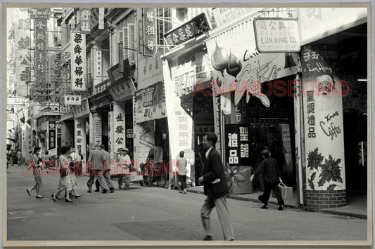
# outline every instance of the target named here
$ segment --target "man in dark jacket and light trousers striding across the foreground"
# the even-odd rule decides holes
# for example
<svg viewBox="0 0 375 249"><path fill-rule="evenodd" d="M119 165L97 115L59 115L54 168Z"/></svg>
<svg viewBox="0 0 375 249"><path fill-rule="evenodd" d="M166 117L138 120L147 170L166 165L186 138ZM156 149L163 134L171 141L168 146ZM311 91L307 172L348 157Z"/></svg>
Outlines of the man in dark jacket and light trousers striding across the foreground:
<svg viewBox="0 0 375 249"><path fill-rule="evenodd" d="M207 198L201 208L201 219L205 229L204 241L212 241L212 231L210 227L210 213L212 208L216 207L217 216L219 217L224 240L233 241L233 227L227 207L225 196L229 193L227 179L222 166L222 159L219 152L215 149L217 136L214 133L207 133L203 137L203 148L205 152L205 166L203 175L198 178L198 183L203 183L204 191Z"/></svg>

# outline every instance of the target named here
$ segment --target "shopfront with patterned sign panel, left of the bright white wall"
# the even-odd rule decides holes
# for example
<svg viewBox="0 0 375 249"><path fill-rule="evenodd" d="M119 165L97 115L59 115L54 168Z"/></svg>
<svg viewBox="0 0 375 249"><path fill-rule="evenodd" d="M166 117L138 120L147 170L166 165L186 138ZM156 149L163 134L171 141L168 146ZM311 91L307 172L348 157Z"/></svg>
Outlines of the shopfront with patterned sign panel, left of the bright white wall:
<svg viewBox="0 0 375 249"><path fill-rule="evenodd" d="M155 149L155 163L170 161L170 133L160 55L141 56L137 64L138 90L133 93L134 161L144 163Z"/></svg>

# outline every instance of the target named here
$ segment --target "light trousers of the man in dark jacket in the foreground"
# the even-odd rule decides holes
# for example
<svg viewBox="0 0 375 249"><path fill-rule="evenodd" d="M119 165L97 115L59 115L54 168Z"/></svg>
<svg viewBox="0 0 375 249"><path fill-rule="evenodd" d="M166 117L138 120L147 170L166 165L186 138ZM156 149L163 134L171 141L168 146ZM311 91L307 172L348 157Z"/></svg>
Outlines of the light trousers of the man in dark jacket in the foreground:
<svg viewBox="0 0 375 249"><path fill-rule="evenodd" d="M229 210L227 207L227 200L224 196L220 198L215 198L210 200L205 199L203 206L201 208L201 220L203 223L203 228L205 229L206 236L212 236L211 225L210 225L210 213L212 208L217 210L217 216L219 217L220 224L222 226L222 232L224 234L224 240L234 240L233 227L231 225L231 217L229 215Z"/></svg>

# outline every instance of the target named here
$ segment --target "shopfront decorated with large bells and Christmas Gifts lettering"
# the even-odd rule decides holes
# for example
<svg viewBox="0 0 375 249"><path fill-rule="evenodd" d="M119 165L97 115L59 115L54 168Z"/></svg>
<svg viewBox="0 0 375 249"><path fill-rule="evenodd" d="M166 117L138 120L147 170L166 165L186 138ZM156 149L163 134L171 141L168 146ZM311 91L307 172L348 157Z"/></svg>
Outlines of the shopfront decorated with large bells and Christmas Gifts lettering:
<svg viewBox="0 0 375 249"><path fill-rule="evenodd" d="M230 29L216 29L205 41L217 99L214 119L220 121L215 132L222 137L222 159L236 182L233 193L262 189L261 182L249 181L251 170L262 161L262 149L277 159L290 187L298 184L291 93L298 54L260 53L253 26L257 15L249 13Z"/></svg>

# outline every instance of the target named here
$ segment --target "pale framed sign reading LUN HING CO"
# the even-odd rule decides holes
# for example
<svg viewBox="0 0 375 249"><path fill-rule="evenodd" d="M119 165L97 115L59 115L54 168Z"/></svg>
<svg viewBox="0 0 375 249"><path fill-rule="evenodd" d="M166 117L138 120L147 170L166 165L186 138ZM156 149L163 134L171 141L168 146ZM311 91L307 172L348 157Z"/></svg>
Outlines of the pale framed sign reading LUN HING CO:
<svg viewBox="0 0 375 249"><path fill-rule="evenodd" d="M298 22L293 18L255 18L254 32L260 53L300 51Z"/></svg>

